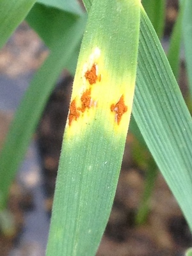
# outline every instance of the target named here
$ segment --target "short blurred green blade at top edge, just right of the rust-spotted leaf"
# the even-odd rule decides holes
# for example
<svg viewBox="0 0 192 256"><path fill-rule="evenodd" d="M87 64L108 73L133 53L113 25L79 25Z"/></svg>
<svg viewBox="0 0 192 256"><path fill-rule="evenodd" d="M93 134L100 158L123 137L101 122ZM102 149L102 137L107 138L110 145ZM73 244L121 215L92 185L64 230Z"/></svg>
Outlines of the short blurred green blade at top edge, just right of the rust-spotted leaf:
<svg viewBox="0 0 192 256"><path fill-rule="evenodd" d="M142 0L145 12L152 22L159 38L163 36L165 21L165 0Z"/></svg>

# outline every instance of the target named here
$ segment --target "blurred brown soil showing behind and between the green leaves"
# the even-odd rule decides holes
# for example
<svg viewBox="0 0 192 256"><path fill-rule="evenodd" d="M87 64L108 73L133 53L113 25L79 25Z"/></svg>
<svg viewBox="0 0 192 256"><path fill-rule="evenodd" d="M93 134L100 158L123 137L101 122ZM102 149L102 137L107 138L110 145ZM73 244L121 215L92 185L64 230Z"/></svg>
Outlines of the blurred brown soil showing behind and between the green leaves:
<svg viewBox="0 0 192 256"><path fill-rule="evenodd" d="M164 38L167 38L172 31L177 17L177 9L176 0L168 1ZM28 27L28 24L23 22L0 52L0 79L11 77L15 81L19 77L30 78L45 60L47 54L48 50L40 38ZM67 70L63 70L34 137L41 158L45 195L44 209L47 216L51 215L52 197L72 81L73 77ZM186 84L184 61L182 60L180 87L184 96L188 93ZM13 83L11 88L14 86ZM20 86L22 87L22 81ZM10 96L11 94L12 96ZM8 97L13 97L14 106L18 106L20 96L14 101L14 94L8 93ZM6 99L6 95L4 99ZM0 147L2 147L14 109L4 109L3 102L0 102L0 109ZM136 224L136 214L141 204L147 176L147 164L138 164L132 156L132 150L136 143L138 143L136 138L128 133L113 209L97 256L184 255L186 248L192 245L192 237L182 212L160 172L157 174L152 196L148 200L147 219L142 225ZM10 189L8 208L15 218L15 228L6 236L3 232L0 233L1 256L10 255L10 250L18 246L20 234L25 228L23 216L26 211L33 212L34 210L33 195L30 190L23 190L17 181L13 182ZM28 250L22 248L20 254L17 255L32 255L30 250L33 251L30 248ZM17 256L16 254L12 255ZM37 256L37 254L33 255Z"/></svg>

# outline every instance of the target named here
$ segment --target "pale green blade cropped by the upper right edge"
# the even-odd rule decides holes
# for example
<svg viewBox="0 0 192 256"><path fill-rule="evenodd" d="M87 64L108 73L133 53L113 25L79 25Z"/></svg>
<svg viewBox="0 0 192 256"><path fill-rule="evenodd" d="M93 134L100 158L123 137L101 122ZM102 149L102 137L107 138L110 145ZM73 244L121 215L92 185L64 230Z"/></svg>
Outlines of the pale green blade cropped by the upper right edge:
<svg viewBox="0 0 192 256"><path fill-rule="evenodd" d="M192 100L192 4L191 0L186 0L184 4L184 19L182 24L183 36L184 36L184 48L186 57L186 67L189 80L189 92Z"/></svg>

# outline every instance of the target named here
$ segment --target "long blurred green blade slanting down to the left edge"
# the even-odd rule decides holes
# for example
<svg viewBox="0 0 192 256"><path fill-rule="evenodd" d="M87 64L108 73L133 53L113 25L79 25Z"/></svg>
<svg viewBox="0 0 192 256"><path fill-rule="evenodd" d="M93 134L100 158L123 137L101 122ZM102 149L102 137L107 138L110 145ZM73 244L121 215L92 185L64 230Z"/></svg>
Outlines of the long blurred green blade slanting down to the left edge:
<svg viewBox="0 0 192 256"><path fill-rule="evenodd" d="M0 209L6 205L9 186L24 157L54 83L79 45L85 22L86 15L68 27L67 31L63 31L62 40L56 47L57 51L51 52L45 60L22 99L0 155Z"/></svg>

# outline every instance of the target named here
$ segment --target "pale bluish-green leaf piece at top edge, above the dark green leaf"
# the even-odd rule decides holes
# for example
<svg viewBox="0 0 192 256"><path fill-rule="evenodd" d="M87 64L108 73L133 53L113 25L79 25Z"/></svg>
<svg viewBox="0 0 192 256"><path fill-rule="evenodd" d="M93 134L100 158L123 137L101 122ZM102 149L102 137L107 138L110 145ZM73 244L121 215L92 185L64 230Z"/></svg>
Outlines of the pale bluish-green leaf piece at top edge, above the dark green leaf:
<svg viewBox="0 0 192 256"><path fill-rule="evenodd" d="M38 0L40 4L45 4L54 8L61 9L65 12L71 12L76 15L82 15L83 10L77 0Z"/></svg>

